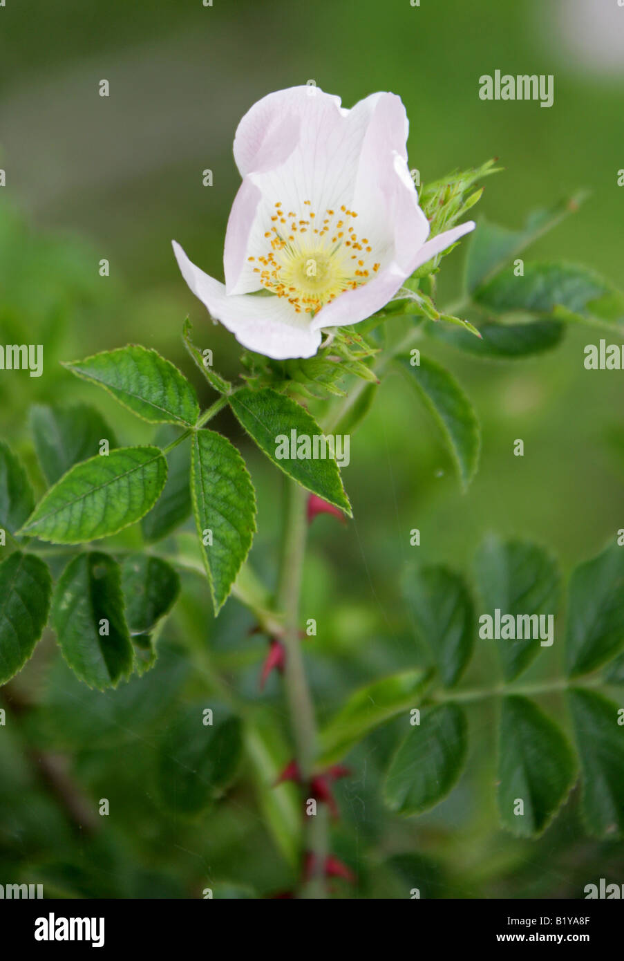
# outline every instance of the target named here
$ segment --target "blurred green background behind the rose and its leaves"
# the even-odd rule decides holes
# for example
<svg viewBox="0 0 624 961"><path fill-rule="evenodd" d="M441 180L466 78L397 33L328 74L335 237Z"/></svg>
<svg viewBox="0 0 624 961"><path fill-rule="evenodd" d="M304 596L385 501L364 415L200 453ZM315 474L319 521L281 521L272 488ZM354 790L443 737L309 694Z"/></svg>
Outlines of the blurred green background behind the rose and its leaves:
<svg viewBox="0 0 624 961"><path fill-rule="evenodd" d="M554 106L481 101L479 77L496 68L554 74ZM108 99L98 95L103 78ZM53 8L8 0L0 10L0 342L43 343L44 376L0 373L0 436L24 456L39 489L32 403L81 399L105 412L123 442L146 437L106 395L64 373L60 359L142 343L202 390L180 341L188 314L215 366L237 376L238 345L188 291L170 241L222 277L239 184L231 156L238 120L264 94L308 80L347 107L377 89L399 94L410 118L410 166L425 182L498 157L506 169L488 180L477 220L486 214L519 227L529 209L588 188L582 209L527 257L569 259L621 281L624 9L614 0L214 0L212 8L201 0L58 0ZM202 184L204 168L213 171L212 187ZM444 261L443 304L458 295L464 254ZM104 258L108 279L98 275ZM557 350L505 363L435 344L432 354L482 420L481 467L467 495L411 391L399 378L384 382L345 470L355 519L343 529L322 518L311 534L302 614L319 624L307 662L322 716L356 683L418 662L399 587L415 551L469 574L476 546L496 530L548 545L567 572L624 527L624 374L584 369L583 348L598 336L572 329ZM252 562L270 583L275 472L227 414L217 426L243 450L258 488ZM513 456L516 438L524 457ZM418 549L409 546L414 527ZM43 880L50 893L87 897L197 897L215 879L260 894L292 884L248 780L191 825L163 815L153 797L167 719L203 695L204 681L210 689L215 666L246 698L262 698L272 721L284 719L276 678L257 692L265 642L247 636L246 612L230 601L215 624L201 579L189 576L184 586L145 678L92 694L64 670L50 638L18 678L36 706L19 735L0 728L0 881ZM548 655L528 679L556 671L557 644ZM495 670L483 653L468 685L491 684ZM561 713L557 698L544 704ZM418 820L389 815L379 797L400 724L353 755L333 837L359 885L355 895L339 885L339 894L408 897L416 874L423 897L578 898L586 883L621 868L622 845L585 836L577 792L537 842L496 828L494 717L493 702L472 710L468 771ZM33 773L29 744L42 740L70 758L89 802L111 799L114 816L89 838Z"/></svg>

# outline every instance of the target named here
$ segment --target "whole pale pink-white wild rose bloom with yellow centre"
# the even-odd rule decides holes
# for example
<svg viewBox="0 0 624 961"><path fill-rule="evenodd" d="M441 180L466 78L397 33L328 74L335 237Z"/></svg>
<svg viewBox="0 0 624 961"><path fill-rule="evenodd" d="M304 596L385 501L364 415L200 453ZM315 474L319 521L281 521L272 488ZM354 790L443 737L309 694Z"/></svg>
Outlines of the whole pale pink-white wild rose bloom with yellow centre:
<svg viewBox="0 0 624 961"><path fill-rule="evenodd" d="M312 357L324 329L385 307L418 267L474 228L469 221L427 240L408 126L394 93L349 111L316 86L270 93L245 114L234 138L243 183L229 214L226 283L174 241L184 280L244 347Z"/></svg>

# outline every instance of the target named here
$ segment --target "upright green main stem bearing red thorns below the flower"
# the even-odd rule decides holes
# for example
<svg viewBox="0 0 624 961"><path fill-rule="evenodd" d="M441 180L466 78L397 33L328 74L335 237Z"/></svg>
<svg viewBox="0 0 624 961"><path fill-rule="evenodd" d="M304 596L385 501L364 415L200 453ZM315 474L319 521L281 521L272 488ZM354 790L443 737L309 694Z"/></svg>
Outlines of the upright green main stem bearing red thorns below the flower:
<svg viewBox="0 0 624 961"><path fill-rule="evenodd" d="M286 649L284 687L295 741L295 752L304 785L314 771L317 754L317 726L310 688L305 677L300 642L300 586L305 552L307 491L294 480L286 480L281 558L277 580L277 610L283 613L282 643ZM301 897L323 899L324 863L328 829L324 805L314 816L306 815L305 847L312 860L312 877Z"/></svg>

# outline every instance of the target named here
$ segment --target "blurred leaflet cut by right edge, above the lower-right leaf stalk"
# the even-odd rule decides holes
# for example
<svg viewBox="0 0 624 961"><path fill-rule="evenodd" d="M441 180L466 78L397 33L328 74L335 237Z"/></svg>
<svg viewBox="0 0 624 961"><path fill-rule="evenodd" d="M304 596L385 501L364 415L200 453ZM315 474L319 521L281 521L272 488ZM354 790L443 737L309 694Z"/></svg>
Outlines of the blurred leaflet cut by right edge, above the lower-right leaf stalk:
<svg viewBox="0 0 624 961"><path fill-rule="evenodd" d="M624 647L624 551L610 545L572 572L565 629L565 670L595 671Z"/></svg>

